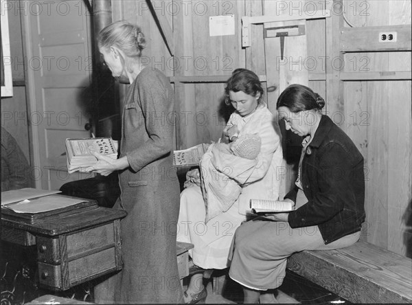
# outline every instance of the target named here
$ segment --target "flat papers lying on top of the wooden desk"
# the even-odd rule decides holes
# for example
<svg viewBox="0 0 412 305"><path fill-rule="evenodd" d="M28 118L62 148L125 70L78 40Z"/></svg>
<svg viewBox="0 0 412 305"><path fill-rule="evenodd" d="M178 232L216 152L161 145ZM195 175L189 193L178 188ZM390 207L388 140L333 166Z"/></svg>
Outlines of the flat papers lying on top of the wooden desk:
<svg viewBox="0 0 412 305"><path fill-rule="evenodd" d="M3 201L3 199L2 199ZM2 205L2 207L8 208L16 213L41 213L52 210L62 209L63 207L69 207L70 205L76 205L83 202L81 198L69 198L59 195L42 196L36 199L24 200L16 203L10 203L8 205Z"/></svg>

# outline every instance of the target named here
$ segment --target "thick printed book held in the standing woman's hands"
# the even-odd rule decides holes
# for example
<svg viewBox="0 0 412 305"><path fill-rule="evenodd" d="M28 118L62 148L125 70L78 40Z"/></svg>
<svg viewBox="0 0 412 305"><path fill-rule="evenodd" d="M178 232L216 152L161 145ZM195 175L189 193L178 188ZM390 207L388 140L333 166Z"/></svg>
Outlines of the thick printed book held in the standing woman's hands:
<svg viewBox="0 0 412 305"><path fill-rule="evenodd" d="M66 139L67 169L69 173L93 166L97 162L91 150L117 159L117 148L111 137L90 137L84 139Z"/></svg>

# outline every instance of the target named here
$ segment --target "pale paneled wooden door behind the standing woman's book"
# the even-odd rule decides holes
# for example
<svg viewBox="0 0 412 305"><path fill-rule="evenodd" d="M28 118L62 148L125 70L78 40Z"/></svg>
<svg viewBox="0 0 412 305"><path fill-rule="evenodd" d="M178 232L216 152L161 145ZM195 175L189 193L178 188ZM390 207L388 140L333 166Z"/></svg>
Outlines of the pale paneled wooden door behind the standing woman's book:
<svg viewBox="0 0 412 305"><path fill-rule="evenodd" d="M84 1L20 1L27 54L32 175L36 188L56 190L88 177L67 173L65 139L89 137L91 22Z"/></svg>

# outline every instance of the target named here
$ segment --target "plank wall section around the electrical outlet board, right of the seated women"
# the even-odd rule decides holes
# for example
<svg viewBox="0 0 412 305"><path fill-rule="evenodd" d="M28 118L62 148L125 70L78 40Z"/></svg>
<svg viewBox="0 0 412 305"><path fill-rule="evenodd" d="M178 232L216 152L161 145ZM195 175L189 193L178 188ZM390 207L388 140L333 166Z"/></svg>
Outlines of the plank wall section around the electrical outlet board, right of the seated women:
<svg viewBox="0 0 412 305"><path fill-rule="evenodd" d="M355 27L411 24L408 0L344 4ZM411 70L411 52L345 54L344 71L405 70ZM344 82L344 88L341 127L365 157L363 239L411 257L411 81L354 80Z"/></svg>

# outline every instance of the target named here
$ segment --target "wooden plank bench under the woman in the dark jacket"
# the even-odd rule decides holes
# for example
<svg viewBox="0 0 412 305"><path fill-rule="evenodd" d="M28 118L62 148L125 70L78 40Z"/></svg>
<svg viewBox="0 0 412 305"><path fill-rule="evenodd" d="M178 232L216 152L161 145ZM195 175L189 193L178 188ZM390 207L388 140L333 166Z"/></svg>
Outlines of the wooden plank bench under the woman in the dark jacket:
<svg viewBox="0 0 412 305"><path fill-rule="evenodd" d="M368 242L302 251L287 268L354 303L412 303L412 260Z"/></svg>

